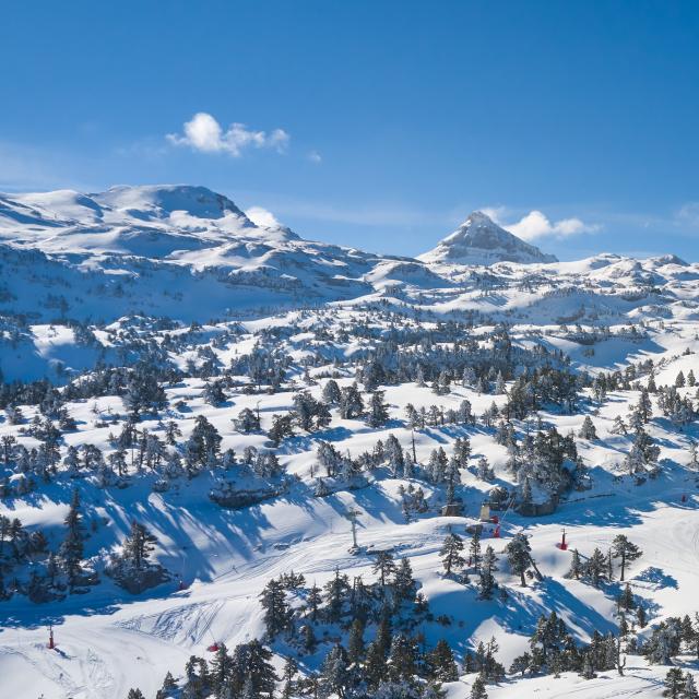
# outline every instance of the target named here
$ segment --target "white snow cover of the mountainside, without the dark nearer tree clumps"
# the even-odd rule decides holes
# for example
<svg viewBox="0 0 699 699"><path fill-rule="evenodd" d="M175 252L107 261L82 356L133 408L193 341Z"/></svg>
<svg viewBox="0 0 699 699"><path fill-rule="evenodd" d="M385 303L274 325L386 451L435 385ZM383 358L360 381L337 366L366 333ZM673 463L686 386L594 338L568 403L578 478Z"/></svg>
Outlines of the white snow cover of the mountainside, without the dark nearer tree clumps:
<svg viewBox="0 0 699 699"><path fill-rule="evenodd" d="M410 559L429 603L433 618L415 631L428 648L446 639L459 663L495 637L507 671L529 649L540 616L552 609L577 643L589 643L595 631L617 632L618 579L595 588L567 572L572 548L587 559L595 547L606 552L619 533L643 550L628 570L632 593L649 617L647 629L635 630L639 639L671 616L699 612L699 482L690 451L699 440L697 387L686 382L677 389L695 408L683 423L663 412L659 393L650 398L652 416L644 429L659 448L652 477L629 475L625 459L633 430L616 429L617 418L629 423L651 376L663 387L674 386L679 371L684 377L699 372L699 264L673 256L635 260L605 253L557 262L500 230L473 214L434 251L412 260L258 226L204 188L1 196L3 380L47 378L66 390L71 380L95 380L105 367L128 374L139 360L152 360L171 374L161 381L165 406L159 414L137 418L141 435L156 436L168 457L181 458L198 418L205 417L222 438L222 452L234 450L236 462L208 463L189 477L181 470L170 472L163 457L138 472L132 448L120 479L88 465L78 475L71 472L64 462L71 447L80 454L86 446L97 448L107 464L118 451L116 437L128 424L128 411L117 380L66 402L74 426L61 428L59 463L43 478L33 470L46 386L36 388L38 399L27 391L11 401L23 413L19 424L11 411L0 410L0 439L14 438L28 454L5 463L0 451L0 485L11 489L0 497L0 514L19 518L31 532L40 529L50 550L58 550L78 488L88 533L85 556L100 577L85 594L45 604L21 591L0 601L0 696L123 699L139 687L153 697L166 672L181 680L190 655L211 660L212 642L233 648L263 636L259 593L271 578L293 570L308 584L323 585L339 569L351 580L362 576L371 583L374 554L386 549ZM422 384L405 369L414 355L424 364L439 355L448 365L469 347L477 357L494 347L502 328L511 343L502 352L521 364L501 392L494 390L497 371L481 388L459 374L449 392L438 394L431 386L437 377ZM260 347L276 353L284 367L275 387L252 381L248 357ZM346 389L372 360L407 372L400 380L378 380L388 405L384 424L344 418L330 405L328 425L312 431L295 427L294 435L273 445L269 431L275 416L293 410L296 394L306 390L320 401L330 377ZM493 406L505 407L516 380L537 366L578 377L579 401L572 411L546 404L525 418L512 417L516 438L522 445L528 435L553 427L561 436L572 434L589 484L566 493L552 514L508 510L499 538L493 536L493 523L486 524L483 544L498 556L497 582L506 592L486 601L478 596L473 571L470 581L443 573L439 552L450 529L467 542L466 528L478 523L481 503L494 486L522 488L508 467L508 447L498 441L500 418L486 416ZM592 378L613 372L627 384L597 396ZM205 391L217 379L225 395L212 404ZM362 379L358 383L368 404L371 392ZM406 418L408 404L429 414L433 406L457 412L463 401L476 416L473 424L436 419L414 427ZM259 415L260 429L245 433L236 426L234 418L245 408ZM594 438L579 436L585 417L594 424ZM166 442L173 425L181 433L174 445ZM414 450L420 469L414 476L402 477L381 463L357 482L341 482L336 491L318 495L321 441L359 460L391 435L408 454ZM464 437L471 457L455 486L463 517L445 517L446 487L426 479L422 469L433 450L441 447L451 457L455 439ZM274 451L288 481L253 505L220 507L210 490L221 481L248 484L241 460L251 447ZM478 474L481 458L493 466L491 479ZM23 491L28 476L34 488ZM403 489L410 486L424 490L428 507L407 518ZM358 553L350 550L350 510L358 522ZM171 574L139 594L105 574L133 519L156 536L153 558ZM556 545L564 529L569 550ZM506 560L507 544L521 532L531 535L543 574L525 588ZM17 574L24 584L33 570L45 568L34 555ZM7 585L13 574L3 571ZM46 647L49 625L58 650ZM346 643L346 629L325 631L321 636L319 626L318 649L298 655L304 674L321 667L333 639ZM283 639L271 647L281 668L291 647ZM626 655L623 677L611 671L594 679L568 672L559 678L507 673L488 685L488 696L661 697L668 667ZM689 673L699 670L687 652L674 663ZM442 688L449 699L466 699L474 679L460 667L459 680Z"/></svg>

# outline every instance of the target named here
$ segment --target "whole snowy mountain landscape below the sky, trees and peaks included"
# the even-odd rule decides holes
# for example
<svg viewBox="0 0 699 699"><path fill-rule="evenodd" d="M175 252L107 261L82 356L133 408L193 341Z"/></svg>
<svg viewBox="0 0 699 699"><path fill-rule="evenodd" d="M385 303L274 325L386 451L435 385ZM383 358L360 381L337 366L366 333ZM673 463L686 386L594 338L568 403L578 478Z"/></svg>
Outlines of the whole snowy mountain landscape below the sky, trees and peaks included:
<svg viewBox="0 0 699 699"><path fill-rule="evenodd" d="M185 186L0 236L0 696L696 696L699 264Z"/></svg>

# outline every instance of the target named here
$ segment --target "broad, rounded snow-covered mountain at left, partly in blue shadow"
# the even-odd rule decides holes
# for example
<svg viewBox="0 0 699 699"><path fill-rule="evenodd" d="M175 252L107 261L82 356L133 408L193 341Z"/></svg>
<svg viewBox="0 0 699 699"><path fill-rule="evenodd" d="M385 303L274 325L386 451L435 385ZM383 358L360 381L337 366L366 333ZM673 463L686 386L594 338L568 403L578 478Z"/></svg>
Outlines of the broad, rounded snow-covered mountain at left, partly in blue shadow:
<svg viewBox="0 0 699 699"><path fill-rule="evenodd" d="M58 304L75 318L140 309L191 320L317 305L371 292L364 276L383 260L256 225L203 187L0 194L2 288L32 313Z"/></svg>

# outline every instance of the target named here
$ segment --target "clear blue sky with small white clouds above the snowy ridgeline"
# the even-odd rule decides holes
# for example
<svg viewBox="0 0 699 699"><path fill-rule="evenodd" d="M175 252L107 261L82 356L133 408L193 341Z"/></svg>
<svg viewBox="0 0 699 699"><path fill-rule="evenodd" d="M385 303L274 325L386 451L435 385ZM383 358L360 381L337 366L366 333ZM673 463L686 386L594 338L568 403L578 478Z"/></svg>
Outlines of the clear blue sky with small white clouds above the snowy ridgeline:
<svg viewBox="0 0 699 699"><path fill-rule="evenodd" d="M8 2L0 85L0 189L204 185L404 254L487 209L561 259L699 260L694 1Z"/></svg>

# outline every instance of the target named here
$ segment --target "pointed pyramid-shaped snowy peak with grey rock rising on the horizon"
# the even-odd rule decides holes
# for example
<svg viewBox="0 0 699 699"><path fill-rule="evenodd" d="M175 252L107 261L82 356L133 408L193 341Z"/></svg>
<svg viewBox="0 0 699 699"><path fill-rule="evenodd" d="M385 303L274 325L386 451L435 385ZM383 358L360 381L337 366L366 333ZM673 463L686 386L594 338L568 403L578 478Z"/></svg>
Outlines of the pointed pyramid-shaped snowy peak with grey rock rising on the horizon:
<svg viewBox="0 0 699 699"><path fill-rule="evenodd" d="M556 262L553 254L524 242L498 226L482 211L474 211L436 248L418 257L424 262L446 264L494 264L496 262Z"/></svg>

